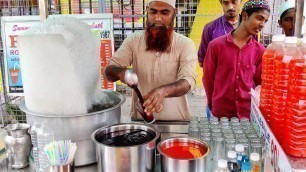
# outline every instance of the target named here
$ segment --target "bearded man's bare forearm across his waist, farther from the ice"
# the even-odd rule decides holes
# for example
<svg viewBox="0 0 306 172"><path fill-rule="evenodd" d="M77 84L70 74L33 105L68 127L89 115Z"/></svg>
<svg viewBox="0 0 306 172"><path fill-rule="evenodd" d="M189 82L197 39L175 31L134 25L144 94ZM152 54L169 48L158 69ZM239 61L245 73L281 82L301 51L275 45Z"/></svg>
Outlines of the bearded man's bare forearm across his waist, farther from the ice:
<svg viewBox="0 0 306 172"><path fill-rule="evenodd" d="M162 86L165 89L165 97L183 96L190 90L191 86L187 80L181 79L175 83Z"/></svg>

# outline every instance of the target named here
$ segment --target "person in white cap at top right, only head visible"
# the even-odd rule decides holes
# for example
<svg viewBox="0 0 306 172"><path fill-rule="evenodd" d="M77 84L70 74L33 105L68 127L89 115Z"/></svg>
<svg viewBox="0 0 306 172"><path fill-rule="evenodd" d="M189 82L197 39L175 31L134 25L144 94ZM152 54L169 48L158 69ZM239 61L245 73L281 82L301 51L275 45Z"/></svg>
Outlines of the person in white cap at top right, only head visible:
<svg viewBox="0 0 306 172"><path fill-rule="evenodd" d="M284 2L279 8L279 26L286 36L294 36L295 26L295 0Z"/></svg>

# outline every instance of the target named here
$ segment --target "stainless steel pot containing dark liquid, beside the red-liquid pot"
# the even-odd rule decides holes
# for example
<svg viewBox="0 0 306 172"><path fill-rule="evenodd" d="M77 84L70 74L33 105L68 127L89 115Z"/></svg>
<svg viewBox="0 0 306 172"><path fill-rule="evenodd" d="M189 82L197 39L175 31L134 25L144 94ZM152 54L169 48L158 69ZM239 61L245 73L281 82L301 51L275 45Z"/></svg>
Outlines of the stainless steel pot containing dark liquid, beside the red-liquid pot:
<svg viewBox="0 0 306 172"><path fill-rule="evenodd" d="M141 129L155 137L135 146L109 146L98 142L98 137L125 130ZM98 172L146 172L153 171L156 158L156 141L160 133L152 125L147 124L118 124L103 127L92 133L91 139L96 144Z"/></svg>

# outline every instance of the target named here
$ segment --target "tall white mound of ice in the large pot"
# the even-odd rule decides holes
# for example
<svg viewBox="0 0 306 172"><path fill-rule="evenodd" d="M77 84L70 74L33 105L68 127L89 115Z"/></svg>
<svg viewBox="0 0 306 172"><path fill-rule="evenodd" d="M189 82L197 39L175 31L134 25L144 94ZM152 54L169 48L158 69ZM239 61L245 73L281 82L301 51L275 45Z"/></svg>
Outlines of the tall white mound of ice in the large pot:
<svg viewBox="0 0 306 172"><path fill-rule="evenodd" d="M90 26L61 16L18 37L26 107L40 114L86 114L102 98L99 39Z"/></svg>

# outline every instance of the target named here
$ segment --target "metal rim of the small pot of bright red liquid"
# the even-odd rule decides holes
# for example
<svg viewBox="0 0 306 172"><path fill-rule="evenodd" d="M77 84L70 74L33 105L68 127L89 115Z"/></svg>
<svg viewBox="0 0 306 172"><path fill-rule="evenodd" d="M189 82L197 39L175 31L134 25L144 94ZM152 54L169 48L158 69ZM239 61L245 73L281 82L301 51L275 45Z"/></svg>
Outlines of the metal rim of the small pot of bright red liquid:
<svg viewBox="0 0 306 172"><path fill-rule="evenodd" d="M203 154L202 156L198 157L198 158L192 158L192 159L178 159L178 158L172 158L170 157L169 155L165 154L162 150L161 150L161 145L164 144L165 142L167 141L172 141L172 140L178 140L178 141L184 141L185 143L187 143L188 141L193 141L193 142L197 142L199 143L199 145L202 145L202 146L205 146L207 148L207 151L205 154ZM173 159L173 160L179 160L179 161L190 161L190 160L197 160L197 159L201 159L203 157L206 157L207 155L209 155L210 153L210 146L207 142L205 141L202 141L200 139L197 139L197 138L193 138L193 137L182 137L182 136L176 136L176 137L169 137L169 138L166 138L166 139L163 139L162 141L160 141L157 145L157 150L158 152L164 156L164 157L167 157L169 159Z"/></svg>

